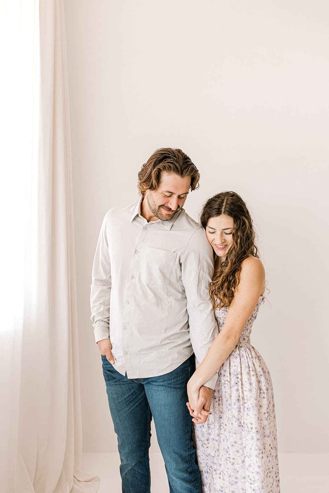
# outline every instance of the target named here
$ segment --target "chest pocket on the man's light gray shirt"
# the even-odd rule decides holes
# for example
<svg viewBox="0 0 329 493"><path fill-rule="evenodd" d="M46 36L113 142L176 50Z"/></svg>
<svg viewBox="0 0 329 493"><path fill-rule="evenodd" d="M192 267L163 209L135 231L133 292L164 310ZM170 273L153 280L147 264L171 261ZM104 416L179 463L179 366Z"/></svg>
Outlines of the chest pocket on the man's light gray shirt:
<svg viewBox="0 0 329 493"><path fill-rule="evenodd" d="M142 279L147 286L165 286L176 262L177 253L147 246L144 254Z"/></svg>

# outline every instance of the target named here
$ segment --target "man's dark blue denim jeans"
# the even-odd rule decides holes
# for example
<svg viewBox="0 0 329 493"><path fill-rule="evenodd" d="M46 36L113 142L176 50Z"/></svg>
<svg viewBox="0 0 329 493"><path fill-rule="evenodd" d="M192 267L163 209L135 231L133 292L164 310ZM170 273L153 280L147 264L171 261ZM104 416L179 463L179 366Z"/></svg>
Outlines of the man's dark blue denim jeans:
<svg viewBox="0 0 329 493"><path fill-rule="evenodd" d="M122 493L150 493L151 420L165 462L170 493L201 493L200 472L186 407L194 356L159 377L129 379L102 356L110 413L118 438Z"/></svg>

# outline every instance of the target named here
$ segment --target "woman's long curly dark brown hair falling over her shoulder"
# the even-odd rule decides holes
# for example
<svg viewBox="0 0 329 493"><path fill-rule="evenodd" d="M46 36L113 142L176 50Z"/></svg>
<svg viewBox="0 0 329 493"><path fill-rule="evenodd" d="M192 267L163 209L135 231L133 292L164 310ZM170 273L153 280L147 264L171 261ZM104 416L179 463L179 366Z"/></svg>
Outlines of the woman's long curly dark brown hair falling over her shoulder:
<svg viewBox="0 0 329 493"><path fill-rule="evenodd" d="M221 214L232 217L234 221L233 244L210 284L209 294L213 308L230 306L240 282L242 262L251 255L258 258L253 219L240 195L235 192L221 192L207 200L200 215L203 228L206 229L211 217Z"/></svg>

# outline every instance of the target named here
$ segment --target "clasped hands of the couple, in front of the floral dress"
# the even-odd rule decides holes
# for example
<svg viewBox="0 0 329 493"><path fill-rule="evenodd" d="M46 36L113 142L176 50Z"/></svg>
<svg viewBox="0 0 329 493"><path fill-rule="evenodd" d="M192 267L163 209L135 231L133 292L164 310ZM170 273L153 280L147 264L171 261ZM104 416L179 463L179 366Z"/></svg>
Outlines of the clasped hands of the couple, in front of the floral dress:
<svg viewBox="0 0 329 493"><path fill-rule="evenodd" d="M196 424L206 423L210 413L211 399L213 396L212 388L204 385L198 388L193 385L193 377L187 384L187 395L189 414L193 417L192 421Z"/></svg>

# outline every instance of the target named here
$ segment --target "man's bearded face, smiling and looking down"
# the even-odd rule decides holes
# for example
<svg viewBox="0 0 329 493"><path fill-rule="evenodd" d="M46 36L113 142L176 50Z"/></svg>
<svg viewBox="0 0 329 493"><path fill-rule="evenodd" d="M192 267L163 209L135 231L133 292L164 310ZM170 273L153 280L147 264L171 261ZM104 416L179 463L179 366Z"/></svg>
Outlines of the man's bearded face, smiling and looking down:
<svg viewBox="0 0 329 493"><path fill-rule="evenodd" d="M190 185L190 176L162 172L157 190L146 190L146 211L149 209L155 218L163 221L171 219L175 212L182 209Z"/></svg>

